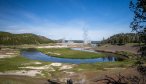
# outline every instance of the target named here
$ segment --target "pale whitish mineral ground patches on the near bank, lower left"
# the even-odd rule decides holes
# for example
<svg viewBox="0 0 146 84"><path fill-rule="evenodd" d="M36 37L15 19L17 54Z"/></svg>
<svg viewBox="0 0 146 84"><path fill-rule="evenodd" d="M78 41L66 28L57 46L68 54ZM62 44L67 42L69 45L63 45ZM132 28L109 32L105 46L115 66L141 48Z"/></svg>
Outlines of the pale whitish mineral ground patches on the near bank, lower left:
<svg viewBox="0 0 146 84"><path fill-rule="evenodd" d="M32 64L32 63L30 63ZM40 62L34 62L33 64L40 64ZM42 75L41 71L48 70L48 71L55 71L55 67L58 67L59 70L67 70L73 68L74 65L62 64L62 63L51 63L44 66L26 66L26 67L19 67L22 70L14 70L14 71L6 71L0 72L0 75L25 75L25 76L36 76L37 74ZM24 69L24 70L23 70ZM25 70L29 69L29 70ZM67 74L73 74L73 72L65 72Z"/></svg>

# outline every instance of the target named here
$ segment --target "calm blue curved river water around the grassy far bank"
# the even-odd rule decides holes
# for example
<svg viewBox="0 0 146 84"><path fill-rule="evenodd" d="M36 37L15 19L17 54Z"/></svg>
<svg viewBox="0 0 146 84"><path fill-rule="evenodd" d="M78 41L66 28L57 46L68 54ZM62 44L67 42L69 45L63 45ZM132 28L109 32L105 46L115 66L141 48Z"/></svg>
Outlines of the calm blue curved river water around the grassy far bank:
<svg viewBox="0 0 146 84"><path fill-rule="evenodd" d="M67 59L67 58L57 58L48 56L38 51L23 51L21 55L32 59L32 60L41 60L41 61L48 61L48 62L60 62L60 63L73 63L73 64L80 64L80 63L96 63L96 62L114 62L117 60L115 57L104 57L104 58L95 58L95 59Z"/></svg>

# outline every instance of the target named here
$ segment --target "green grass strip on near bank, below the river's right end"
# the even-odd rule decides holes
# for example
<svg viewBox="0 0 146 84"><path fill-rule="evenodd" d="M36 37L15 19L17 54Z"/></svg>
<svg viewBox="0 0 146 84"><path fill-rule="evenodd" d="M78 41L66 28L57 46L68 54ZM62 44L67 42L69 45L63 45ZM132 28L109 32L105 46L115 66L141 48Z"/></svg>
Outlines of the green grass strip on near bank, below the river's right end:
<svg viewBox="0 0 146 84"><path fill-rule="evenodd" d="M85 71L96 71L96 70L104 70L104 68L128 68L133 67L135 61L133 60L125 60L125 61L117 61L117 62L98 62L94 64L79 64L74 67L74 71L85 70Z"/></svg>

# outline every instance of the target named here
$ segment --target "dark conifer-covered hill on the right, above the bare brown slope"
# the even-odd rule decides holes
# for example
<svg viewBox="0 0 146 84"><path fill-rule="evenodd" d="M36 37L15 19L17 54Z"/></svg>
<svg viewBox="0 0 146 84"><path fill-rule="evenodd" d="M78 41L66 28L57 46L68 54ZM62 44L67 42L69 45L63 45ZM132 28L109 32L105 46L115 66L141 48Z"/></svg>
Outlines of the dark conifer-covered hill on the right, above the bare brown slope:
<svg viewBox="0 0 146 84"><path fill-rule="evenodd" d="M123 45L126 43L138 43L139 42L139 35L136 33L120 33L115 34L108 39L103 39L101 43L110 43L113 45Z"/></svg>

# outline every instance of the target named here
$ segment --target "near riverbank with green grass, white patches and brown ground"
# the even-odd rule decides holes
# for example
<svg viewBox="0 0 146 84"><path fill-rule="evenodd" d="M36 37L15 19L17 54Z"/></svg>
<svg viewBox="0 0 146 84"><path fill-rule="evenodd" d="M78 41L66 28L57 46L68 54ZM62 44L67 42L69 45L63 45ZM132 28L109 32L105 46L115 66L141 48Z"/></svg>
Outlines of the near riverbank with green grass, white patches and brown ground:
<svg viewBox="0 0 146 84"><path fill-rule="evenodd" d="M55 51L57 50L54 50L54 53L59 53ZM65 53L69 52L65 51ZM50 79L64 84L67 79L72 79L74 84L96 84L94 81L105 75L113 76L128 71L134 66L134 62L134 60L125 60L93 64L52 63L30 60L16 54L15 57L0 59L0 83L7 84L8 81L13 84L41 84ZM19 78L16 78L17 76Z"/></svg>

